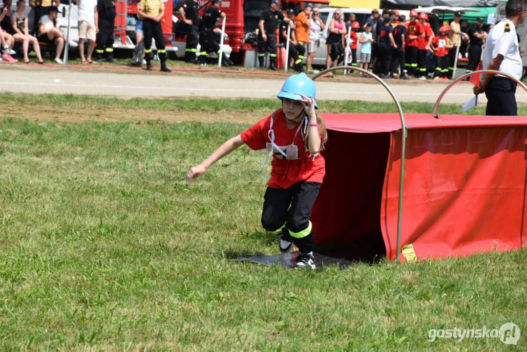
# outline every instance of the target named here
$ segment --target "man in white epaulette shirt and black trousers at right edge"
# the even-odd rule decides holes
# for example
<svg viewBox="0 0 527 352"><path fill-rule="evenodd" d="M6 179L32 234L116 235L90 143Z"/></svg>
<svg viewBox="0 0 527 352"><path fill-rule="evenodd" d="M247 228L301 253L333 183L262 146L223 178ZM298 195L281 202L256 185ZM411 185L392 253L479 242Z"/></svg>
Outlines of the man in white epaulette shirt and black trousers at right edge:
<svg viewBox="0 0 527 352"><path fill-rule="evenodd" d="M496 70L522 78L522 59L516 27L523 23L527 0L509 0L505 5L505 18L489 32L483 50L483 70ZM485 93L487 116L517 116L516 82L490 73L484 74L480 88L474 87L476 96Z"/></svg>

